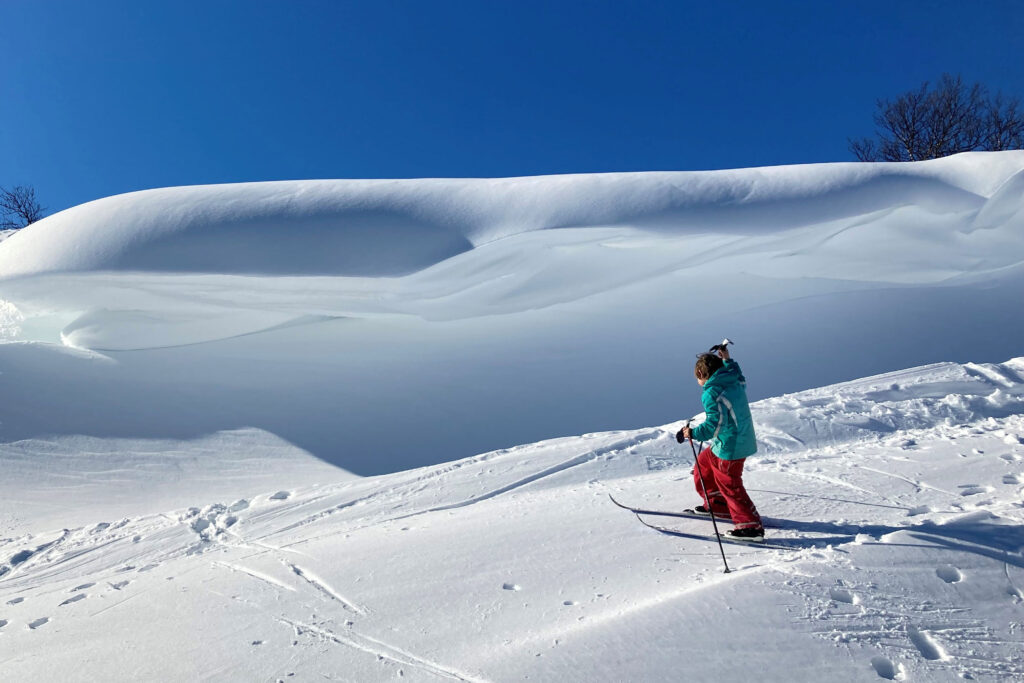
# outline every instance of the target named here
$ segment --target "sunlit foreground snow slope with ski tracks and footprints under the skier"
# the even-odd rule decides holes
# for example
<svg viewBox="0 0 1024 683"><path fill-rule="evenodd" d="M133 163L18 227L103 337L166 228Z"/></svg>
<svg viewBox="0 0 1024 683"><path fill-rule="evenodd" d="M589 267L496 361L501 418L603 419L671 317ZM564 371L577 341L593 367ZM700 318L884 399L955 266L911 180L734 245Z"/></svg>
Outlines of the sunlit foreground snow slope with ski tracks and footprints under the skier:
<svg viewBox="0 0 1024 683"><path fill-rule="evenodd" d="M746 481L784 549L727 546L731 573L713 542L685 536L707 521L644 515L678 532L659 533L608 500L695 501L678 423L593 433L355 480L240 481L156 513L90 517L85 501L55 530L0 540L0 668L52 681L1024 677L1024 358L753 410ZM4 506L106 482L40 458L0 479ZM282 481L294 472L276 466Z"/></svg>

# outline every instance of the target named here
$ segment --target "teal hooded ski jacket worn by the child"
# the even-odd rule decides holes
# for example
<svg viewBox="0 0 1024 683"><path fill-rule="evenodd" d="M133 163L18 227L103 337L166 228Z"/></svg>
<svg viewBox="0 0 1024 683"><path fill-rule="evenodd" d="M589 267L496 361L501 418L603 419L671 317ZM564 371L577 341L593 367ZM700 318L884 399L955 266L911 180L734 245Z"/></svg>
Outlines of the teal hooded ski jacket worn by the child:
<svg viewBox="0 0 1024 683"><path fill-rule="evenodd" d="M754 419L746 401L746 378L739 364L729 359L705 382L700 402L705 421L693 427L693 438L710 441L722 460L740 460L757 453Z"/></svg>

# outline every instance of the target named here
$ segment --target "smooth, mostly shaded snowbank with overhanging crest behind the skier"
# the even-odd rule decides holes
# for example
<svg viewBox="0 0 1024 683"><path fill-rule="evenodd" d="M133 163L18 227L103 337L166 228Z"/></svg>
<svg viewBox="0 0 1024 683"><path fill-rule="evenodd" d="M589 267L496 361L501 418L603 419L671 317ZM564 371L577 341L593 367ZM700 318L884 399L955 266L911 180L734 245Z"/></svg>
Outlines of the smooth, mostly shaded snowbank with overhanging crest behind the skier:
<svg viewBox="0 0 1024 683"><path fill-rule="evenodd" d="M1008 152L108 198L0 243L0 438L252 428L381 474L692 412L723 333L755 397L1017 356L1022 189Z"/></svg>

